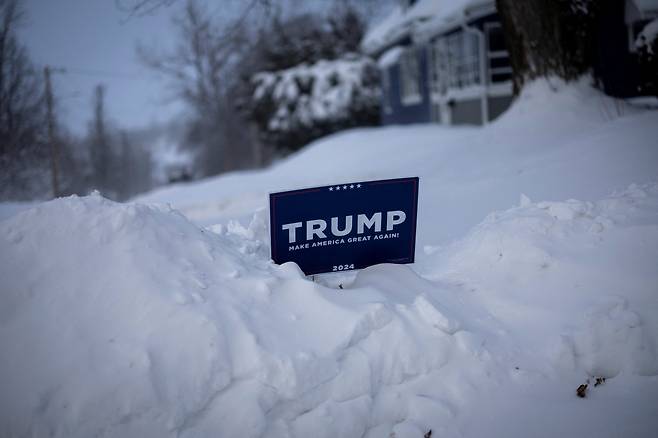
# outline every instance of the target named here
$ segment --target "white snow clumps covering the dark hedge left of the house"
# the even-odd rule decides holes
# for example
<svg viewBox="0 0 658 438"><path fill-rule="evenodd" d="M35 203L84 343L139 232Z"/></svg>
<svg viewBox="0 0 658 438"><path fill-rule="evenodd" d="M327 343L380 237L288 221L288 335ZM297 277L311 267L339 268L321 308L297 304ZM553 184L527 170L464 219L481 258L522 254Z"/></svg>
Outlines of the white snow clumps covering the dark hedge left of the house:
<svg viewBox="0 0 658 438"><path fill-rule="evenodd" d="M359 113L376 112L380 89L377 67L366 57L321 60L254 75L254 105L268 111L267 129L292 131L326 123L352 125Z"/></svg>

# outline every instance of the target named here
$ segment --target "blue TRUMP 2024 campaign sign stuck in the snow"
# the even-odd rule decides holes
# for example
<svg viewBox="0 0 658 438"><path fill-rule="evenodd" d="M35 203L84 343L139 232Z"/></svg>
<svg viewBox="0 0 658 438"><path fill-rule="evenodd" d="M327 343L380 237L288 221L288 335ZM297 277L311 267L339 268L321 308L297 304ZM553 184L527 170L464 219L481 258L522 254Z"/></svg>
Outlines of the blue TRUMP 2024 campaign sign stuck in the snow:
<svg viewBox="0 0 658 438"><path fill-rule="evenodd" d="M413 263L417 210L417 177L272 193L272 260L306 275Z"/></svg>

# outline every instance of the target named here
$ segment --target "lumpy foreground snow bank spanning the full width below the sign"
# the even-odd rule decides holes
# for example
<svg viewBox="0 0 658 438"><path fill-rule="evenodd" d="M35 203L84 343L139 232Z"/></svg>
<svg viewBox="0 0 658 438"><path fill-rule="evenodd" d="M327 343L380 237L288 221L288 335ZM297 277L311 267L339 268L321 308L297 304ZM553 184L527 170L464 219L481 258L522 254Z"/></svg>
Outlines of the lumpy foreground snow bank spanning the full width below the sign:
<svg viewBox="0 0 658 438"><path fill-rule="evenodd" d="M526 436L479 414L527 411L525 385L569 402L588 376L605 409L658 395L658 185L521 204L427 249L422 277L321 283L268 261L265 211L213 232L95 196L19 213L0 222L3 434ZM619 408L625 430L650 436L651 406ZM591 410L559 415L546 436Z"/></svg>

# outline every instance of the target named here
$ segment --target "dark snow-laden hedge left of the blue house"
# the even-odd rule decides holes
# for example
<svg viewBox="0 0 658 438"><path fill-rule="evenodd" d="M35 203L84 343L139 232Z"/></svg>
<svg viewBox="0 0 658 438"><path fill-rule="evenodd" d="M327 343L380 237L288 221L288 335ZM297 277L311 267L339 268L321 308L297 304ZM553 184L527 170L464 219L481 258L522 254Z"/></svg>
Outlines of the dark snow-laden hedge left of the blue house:
<svg viewBox="0 0 658 438"><path fill-rule="evenodd" d="M264 141L295 150L341 129L379 122L376 64L350 54L252 77L252 117Z"/></svg>

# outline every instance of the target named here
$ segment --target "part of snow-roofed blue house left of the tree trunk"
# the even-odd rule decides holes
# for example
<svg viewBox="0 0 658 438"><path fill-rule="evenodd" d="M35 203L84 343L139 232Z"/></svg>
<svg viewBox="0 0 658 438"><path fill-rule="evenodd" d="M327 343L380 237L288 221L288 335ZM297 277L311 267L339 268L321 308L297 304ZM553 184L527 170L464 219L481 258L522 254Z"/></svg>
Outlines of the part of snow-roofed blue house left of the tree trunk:
<svg viewBox="0 0 658 438"><path fill-rule="evenodd" d="M378 59L384 124L482 124L512 102L493 0L403 0L362 46Z"/></svg>

